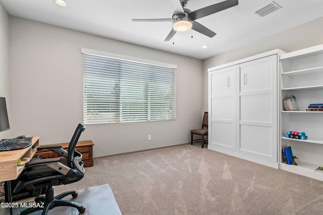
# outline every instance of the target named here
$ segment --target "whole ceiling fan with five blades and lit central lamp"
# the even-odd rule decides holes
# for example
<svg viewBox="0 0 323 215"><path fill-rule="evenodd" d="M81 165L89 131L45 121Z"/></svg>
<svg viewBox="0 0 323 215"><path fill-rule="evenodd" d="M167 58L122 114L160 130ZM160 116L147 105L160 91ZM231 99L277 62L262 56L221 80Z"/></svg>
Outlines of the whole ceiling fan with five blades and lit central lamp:
<svg viewBox="0 0 323 215"><path fill-rule="evenodd" d="M184 32L193 29L208 37L216 35L213 31L199 24L195 20L208 15L226 10L228 8L238 5L238 0L227 0L196 11L186 9L189 0L170 0L173 8L173 18L170 19L132 19L133 22L173 22L173 29L168 34L164 41L170 41L176 32Z"/></svg>

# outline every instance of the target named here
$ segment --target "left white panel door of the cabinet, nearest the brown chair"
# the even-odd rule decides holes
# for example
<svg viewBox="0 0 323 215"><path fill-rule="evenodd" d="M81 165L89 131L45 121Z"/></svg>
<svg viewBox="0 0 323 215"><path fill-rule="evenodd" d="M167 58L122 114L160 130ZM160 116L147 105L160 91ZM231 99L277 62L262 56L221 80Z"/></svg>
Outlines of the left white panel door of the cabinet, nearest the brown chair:
<svg viewBox="0 0 323 215"><path fill-rule="evenodd" d="M214 70L210 80L208 148L236 151L236 65Z"/></svg>

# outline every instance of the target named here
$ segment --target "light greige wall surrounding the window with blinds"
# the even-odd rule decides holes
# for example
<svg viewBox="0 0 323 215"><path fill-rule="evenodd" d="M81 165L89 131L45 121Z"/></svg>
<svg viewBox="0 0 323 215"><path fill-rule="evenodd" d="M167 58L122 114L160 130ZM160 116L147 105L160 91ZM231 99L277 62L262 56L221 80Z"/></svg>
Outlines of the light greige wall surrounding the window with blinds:
<svg viewBox="0 0 323 215"><path fill-rule="evenodd" d="M12 136L70 141L83 121L81 47L177 65L176 120L87 125L80 140L93 140L94 157L189 142L202 120L202 60L17 17L10 17Z"/></svg>

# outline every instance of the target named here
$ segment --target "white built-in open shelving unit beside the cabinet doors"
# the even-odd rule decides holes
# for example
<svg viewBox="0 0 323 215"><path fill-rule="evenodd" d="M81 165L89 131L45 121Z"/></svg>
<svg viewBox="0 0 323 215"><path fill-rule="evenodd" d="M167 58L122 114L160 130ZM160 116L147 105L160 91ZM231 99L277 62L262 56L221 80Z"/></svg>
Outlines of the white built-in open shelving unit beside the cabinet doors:
<svg viewBox="0 0 323 215"><path fill-rule="evenodd" d="M291 146L296 165L282 161L280 168L323 181L323 173L315 172L323 166L323 111L306 111L311 103L323 103L323 45L282 54L280 147ZM283 100L294 95L298 111L285 111ZM303 131L307 139L291 139L287 131Z"/></svg>

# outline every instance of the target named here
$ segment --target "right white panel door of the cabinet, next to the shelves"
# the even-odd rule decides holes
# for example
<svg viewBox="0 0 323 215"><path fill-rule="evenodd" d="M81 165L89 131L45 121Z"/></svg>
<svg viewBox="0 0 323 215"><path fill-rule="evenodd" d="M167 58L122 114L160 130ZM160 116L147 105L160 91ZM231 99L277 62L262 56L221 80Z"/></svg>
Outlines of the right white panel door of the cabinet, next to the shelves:
<svg viewBox="0 0 323 215"><path fill-rule="evenodd" d="M277 162L277 55L239 67L240 153Z"/></svg>

